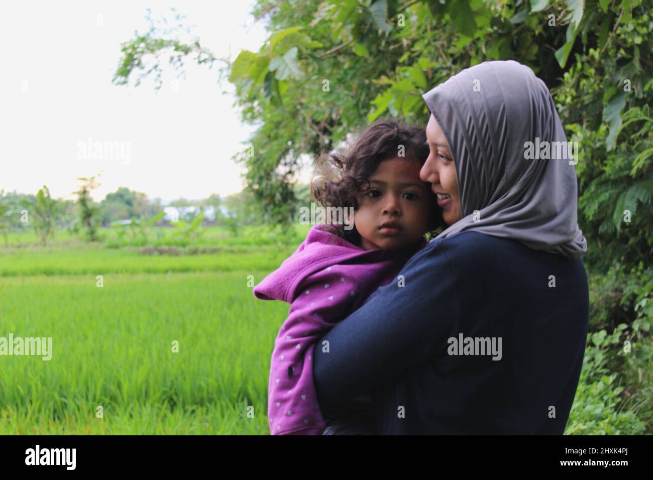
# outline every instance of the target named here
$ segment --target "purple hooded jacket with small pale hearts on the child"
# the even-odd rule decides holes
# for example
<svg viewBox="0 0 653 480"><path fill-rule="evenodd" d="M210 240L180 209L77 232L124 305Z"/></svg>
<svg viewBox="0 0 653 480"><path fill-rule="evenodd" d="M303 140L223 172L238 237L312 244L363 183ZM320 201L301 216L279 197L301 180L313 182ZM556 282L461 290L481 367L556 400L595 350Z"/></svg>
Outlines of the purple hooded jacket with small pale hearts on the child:
<svg viewBox="0 0 653 480"><path fill-rule="evenodd" d="M329 228L313 225L295 253L254 288L261 300L291 304L270 360L268 418L273 435L322 434L325 421L313 386L313 346L376 289L388 285L409 259L389 250L364 250ZM413 253L427 244L422 238Z"/></svg>

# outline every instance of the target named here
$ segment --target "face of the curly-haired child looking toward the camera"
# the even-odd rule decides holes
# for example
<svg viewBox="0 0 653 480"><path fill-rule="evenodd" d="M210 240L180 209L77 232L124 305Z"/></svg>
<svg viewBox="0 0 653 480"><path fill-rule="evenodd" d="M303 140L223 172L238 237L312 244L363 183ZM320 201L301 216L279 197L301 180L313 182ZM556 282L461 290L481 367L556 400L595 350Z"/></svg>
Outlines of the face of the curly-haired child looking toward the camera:
<svg viewBox="0 0 653 480"><path fill-rule="evenodd" d="M418 242L428 231L434 207L430 184L419 178L414 159L395 157L382 161L370 176L370 189L358 193L354 223L361 248L400 249ZM387 221L396 229L381 229Z"/></svg>

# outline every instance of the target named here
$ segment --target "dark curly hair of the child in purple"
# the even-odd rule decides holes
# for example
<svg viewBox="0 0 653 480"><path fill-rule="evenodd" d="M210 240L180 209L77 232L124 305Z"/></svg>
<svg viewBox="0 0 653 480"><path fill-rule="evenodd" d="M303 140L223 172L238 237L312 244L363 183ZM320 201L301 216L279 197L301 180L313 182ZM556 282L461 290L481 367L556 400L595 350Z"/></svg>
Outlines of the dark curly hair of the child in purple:
<svg viewBox="0 0 653 480"><path fill-rule="evenodd" d="M358 195L370 189L369 177L382 161L398 157L402 147L406 159L424 165L429 153L424 128L394 119L377 120L368 125L345 152L327 152L319 157L311 180L313 198L325 207L353 206L358 210ZM362 185L366 187L361 189ZM430 189L429 194L434 208L428 232L436 232L445 227L445 223L436 194ZM344 225L331 227L335 227L334 234L360 246L360 234L355 226L350 230L344 229Z"/></svg>

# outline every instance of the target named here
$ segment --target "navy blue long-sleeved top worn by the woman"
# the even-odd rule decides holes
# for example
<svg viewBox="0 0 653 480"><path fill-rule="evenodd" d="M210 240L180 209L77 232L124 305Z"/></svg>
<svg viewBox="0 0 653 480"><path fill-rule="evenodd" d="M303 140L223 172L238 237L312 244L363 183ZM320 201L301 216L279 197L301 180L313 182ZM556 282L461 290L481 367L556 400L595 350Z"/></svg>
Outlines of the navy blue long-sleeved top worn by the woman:
<svg viewBox="0 0 653 480"><path fill-rule="evenodd" d="M320 407L374 392L379 434L562 434L588 310L581 259L478 232L434 240L317 342ZM501 338L500 359L483 338L495 352Z"/></svg>

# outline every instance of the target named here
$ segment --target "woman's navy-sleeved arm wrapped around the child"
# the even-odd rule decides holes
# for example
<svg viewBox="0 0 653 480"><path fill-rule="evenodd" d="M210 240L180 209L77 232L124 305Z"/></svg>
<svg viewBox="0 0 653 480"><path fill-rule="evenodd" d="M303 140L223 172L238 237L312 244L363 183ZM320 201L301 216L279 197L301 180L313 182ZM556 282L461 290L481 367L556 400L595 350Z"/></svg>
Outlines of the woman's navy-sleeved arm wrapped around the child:
<svg viewBox="0 0 653 480"><path fill-rule="evenodd" d="M426 246L317 341L313 383L323 411L447 351L460 306L445 250L442 240Z"/></svg>

